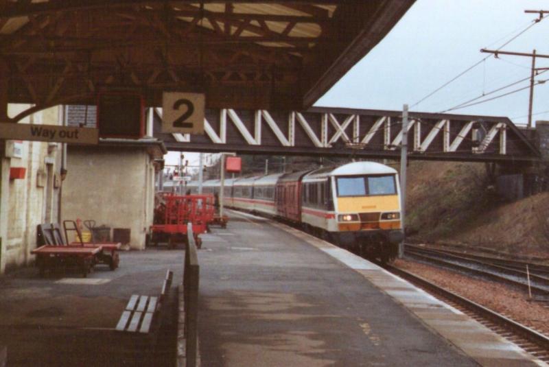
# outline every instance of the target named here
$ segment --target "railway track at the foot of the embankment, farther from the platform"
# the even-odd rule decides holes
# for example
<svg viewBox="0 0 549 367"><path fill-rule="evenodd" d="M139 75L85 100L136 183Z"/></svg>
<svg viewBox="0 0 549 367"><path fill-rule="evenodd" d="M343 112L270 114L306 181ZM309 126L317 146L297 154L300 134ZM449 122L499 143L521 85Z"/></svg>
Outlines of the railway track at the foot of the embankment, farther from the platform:
<svg viewBox="0 0 549 367"><path fill-rule="evenodd" d="M539 264L532 264L534 265L533 270L530 270L528 267L527 273L526 265L524 265L524 269L518 269L515 264L516 261L506 263L503 259L472 254L434 250L410 245L406 245L405 254L412 259L425 261L442 268L458 270L483 279L505 283L522 289L524 292L531 292L536 300L549 300L549 276L545 275L545 269ZM528 285L528 277L530 285Z"/></svg>

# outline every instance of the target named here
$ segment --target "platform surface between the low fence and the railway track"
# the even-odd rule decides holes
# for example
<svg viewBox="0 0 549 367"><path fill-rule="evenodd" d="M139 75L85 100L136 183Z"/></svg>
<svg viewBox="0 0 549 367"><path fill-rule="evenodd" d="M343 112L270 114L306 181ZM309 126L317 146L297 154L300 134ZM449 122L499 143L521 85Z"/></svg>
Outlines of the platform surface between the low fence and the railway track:
<svg viewBox="0 0 549 367"><path fill-rule="evenodd" d="M230 213L225 230L202 235L202 366L538 363L369 261L283 224ZM451 327L439 327L444 321ZM458 338L441 336L450 331ZM488 343L478 335L489 335Z"/></svg>

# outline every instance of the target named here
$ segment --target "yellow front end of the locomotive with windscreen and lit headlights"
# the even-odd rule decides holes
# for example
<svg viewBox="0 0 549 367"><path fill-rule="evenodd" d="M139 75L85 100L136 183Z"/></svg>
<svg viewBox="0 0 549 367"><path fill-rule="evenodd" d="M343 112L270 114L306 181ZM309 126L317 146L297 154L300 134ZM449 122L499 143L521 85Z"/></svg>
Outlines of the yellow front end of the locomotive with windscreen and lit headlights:
<svg viewBox="0 0 549 367"><path fill-rule="evenodd" d="M397 171L356 162L331 174L335 217L332 235L340 246L394 258L404 239Z"/></svg>

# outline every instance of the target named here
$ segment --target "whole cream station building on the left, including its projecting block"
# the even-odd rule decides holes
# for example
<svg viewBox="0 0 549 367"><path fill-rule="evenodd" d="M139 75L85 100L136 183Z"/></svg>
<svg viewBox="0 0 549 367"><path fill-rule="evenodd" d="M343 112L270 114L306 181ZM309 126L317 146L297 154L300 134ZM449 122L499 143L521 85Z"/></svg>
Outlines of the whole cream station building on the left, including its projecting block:
<svg viewBox="0 0 549 367"><path fill-rule="evenodd" d="M27 108L10 104L8 115ZM19 123L61 126L67 123L66 115L65 107L56 106ZM97 226L129 230L129 247L145 248L145 233L153 220L155 175L166 152L161 141L146 136L68 147L1 141L0 274L34 261L30 252L42 223L95 220Z"/></svg>

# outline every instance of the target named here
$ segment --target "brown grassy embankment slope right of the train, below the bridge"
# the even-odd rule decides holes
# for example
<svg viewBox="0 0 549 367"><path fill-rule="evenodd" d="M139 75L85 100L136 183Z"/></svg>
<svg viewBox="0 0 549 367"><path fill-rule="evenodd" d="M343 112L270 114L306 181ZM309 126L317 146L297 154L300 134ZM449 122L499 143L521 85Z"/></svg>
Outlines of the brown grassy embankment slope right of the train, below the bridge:
<svg viewBox="0 0 549 367"><path fill-rule="evenodd" d="M410 239L548 257L549 193L504 202L489 184L482 163L410 163Z"/></svg>

